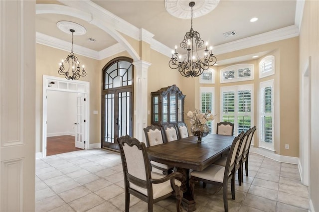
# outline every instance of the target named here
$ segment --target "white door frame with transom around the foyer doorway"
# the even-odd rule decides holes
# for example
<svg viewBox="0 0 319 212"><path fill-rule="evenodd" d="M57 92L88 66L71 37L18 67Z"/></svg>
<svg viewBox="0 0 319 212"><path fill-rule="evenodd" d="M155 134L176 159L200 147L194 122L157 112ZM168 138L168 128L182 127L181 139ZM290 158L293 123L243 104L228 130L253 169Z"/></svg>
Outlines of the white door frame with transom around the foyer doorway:
<svg viewBox="0 0 319 212"><path fill-rule="evenodd" d="M66 85L66 87L49 87L50 82L56 84ZM72 86L71 86L72 85ZM80 90L80 88L84 88ZM46 121L47 121L47 91L62 91L81 93L85 95L86 101L84 102L84 111L86 114L85 120L85 149L90 147L90 82L80 80L67 80L61 77L53 77L43 75L43 89L42 89L42 158L46 157Z"/></svg>

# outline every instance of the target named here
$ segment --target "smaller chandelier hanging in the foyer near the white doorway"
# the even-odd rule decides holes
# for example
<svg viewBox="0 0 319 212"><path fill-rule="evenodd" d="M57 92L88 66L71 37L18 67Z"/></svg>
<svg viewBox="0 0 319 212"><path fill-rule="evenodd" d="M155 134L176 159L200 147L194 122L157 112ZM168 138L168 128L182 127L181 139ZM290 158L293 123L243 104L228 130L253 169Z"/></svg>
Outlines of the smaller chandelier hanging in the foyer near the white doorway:
<svg viewBox="0 0 319 212"><path fill-rule="evenodd" d="M80 77L85 77L86 72L84 70L84 65L82 65L82 70L80 70L80 62L78 61L78 58L73 53L73 32L75 32L74 29L70 29L70 32L72 33L72 46L71 46L71 53L67 56L65 60L61 60L60 68L58 70L58 73L60 75L64 75L64 77L68 80L78 80ZM65 71L64 64L68 64L68 69ZM72 69L72 75L70 73L70 69Z"/></svg>

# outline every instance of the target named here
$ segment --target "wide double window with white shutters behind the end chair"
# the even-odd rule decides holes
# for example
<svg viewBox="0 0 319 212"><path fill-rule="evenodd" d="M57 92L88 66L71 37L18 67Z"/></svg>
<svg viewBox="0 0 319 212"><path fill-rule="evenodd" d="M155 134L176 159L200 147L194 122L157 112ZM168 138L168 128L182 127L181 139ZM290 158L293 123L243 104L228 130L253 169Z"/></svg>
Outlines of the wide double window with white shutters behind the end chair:
<svg viewBox="0 0 319 212"><path fill-rule="evenodd" d="M234 123L234 135L253 125L253 85L221 87L221 121Z"/></svg>

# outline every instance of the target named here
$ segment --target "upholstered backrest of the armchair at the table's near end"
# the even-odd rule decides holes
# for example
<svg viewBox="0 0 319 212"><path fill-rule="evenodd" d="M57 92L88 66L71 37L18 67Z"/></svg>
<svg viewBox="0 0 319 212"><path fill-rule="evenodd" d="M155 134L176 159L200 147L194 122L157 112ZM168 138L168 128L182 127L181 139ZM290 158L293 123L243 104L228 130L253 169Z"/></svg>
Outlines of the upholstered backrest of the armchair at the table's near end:
<svg viewBox="0 0 319 212"><path fill-rule="evenodd" d="M145 143L136 138L125 135L118 138L120 154L124 172L125 187L149 188L151 178L151 165L146 151ZM141 189L142 189L141 188Z"/></svg>

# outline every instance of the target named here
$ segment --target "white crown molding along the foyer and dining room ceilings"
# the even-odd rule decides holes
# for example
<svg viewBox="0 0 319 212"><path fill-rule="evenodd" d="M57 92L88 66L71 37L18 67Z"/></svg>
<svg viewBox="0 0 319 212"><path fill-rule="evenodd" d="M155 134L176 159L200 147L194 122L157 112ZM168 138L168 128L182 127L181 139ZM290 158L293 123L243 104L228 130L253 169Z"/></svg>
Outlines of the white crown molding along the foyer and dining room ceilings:
<svg viewBox="0 0 319 212"><path fill-rule="evenodd" d="M167 57L171 57L172 49L163 45L159 41L155 40L153 38L154 34L147 31L146 29L143 29L143 28L139 29L139 28L135 27L134 25L128 23L127 21L121 19L120 17L114 15L113 13L105 10L103 7L95 4L94 2L89 1L89 0L87 0L87 1L59 0L59 1L65 5L36 4L36 13L41 14L41 13L48 13L48 12L52 12L52 13L59 13L60 12L60 14L65 14L64 12L66 12L66 8L68 8L68 10L67 10L68 15L73 15L75 17L79 17L81 19L87 20L88 22L90 22L92 24L96 24L98 27L100 27L100 28L104 29L105 31L107 31L108 33L110 33L113 37L116 33L116 36L118 38L116 40L118 40L118 41L119 41L119 36L120 36L118 34L118 32L121 32L121 33L124 33L124 34L126 34L126 35L128 35L136 40L145 41L151 45L151 48L153 50L158 51ZM266 43L275 42L275 41L299 36L299 28L300 28L300 24L301 24L301 18L302 18L302 12L303 12L302 8L304 5L304 1L305 0L297 0L297 4L296 4L295 22L299 22L299 23L296 23L295 25L292 25L292 26L284 27L281 29L273 30L270 32L262 33L259 35L255 35L255 36L251 36L248 38L244 38L244 39L240 39L237 41L224 43L224 44L215 46L214 47L214 54L215 55L224 54L224 53L228 53L228 52L232 52L232 51L237 51L240 49L245 49L245 48L249 48L249 47L253 47L253 46L263 45ZM70 10L70 7L76 7L78 9L73 8ZM83 9L86 11L89 10L89 12L91 14L94 14L93 19L92 19L92 15L90 13L83 12L80 9ZM71 13L70 13L70 11L71 11ZM81 14L84 14L84 15L81 16ZM103 20L103 23L101 22L101 20ZM107 26L108 29L105 29L105 26ZM62 41L62 40L59 40L57 38L54 38L54 37L51 37L48 35L44 35L44 34L41 34L38 32L36 32L36 42L43 44L43 45L53 47L53 48L62 49L64 51L69 51L69 49L67 49L65 46L70 46L69 42ZM87 56L87 57L90 57L93 59L101 60L101 59L110 57L114 54L118 54L122 51L125 51L126 48L124 48L123 45L125 45L126 43L123 39L121 40L121 42L124 42L124 43L115 44L109 48L101 50L100 52L97 52L97 51L94 51L94 50L91 50L91 49L88 49L85 47L81 47L78 45L74 45L74 47L75 47L74 49L76 50L76 52L78 54L81 54L83 56ZM126 51L128 51L128 50L126 50ZM136 58L138 58L138 56L136 56Z"/></svg>

